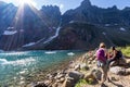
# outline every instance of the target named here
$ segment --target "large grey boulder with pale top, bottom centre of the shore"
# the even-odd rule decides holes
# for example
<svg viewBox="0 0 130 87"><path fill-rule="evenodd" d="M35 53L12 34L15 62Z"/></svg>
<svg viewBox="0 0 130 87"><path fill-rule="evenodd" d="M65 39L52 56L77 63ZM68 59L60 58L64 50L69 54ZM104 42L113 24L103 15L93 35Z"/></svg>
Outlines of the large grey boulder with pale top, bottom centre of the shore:
<svg viewBox="0 0 130 87"><path fill-rule="evenodd" d="M74 82L78 82L80 78L82 78L84 75L82 73L79 73L77 71L72 71L68 73L69 77L74 78Z"/></svg>

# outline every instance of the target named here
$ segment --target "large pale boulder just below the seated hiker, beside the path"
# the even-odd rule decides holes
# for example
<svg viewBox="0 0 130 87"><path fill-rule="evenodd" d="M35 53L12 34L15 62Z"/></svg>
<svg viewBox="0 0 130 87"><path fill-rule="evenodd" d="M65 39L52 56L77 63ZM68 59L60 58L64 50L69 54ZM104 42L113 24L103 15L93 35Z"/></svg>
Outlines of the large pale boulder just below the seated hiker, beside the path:
<svg viewBox="0 0 130 87"><path fill-rule="evenodd" d="M126 74L126 69L125 67L120 67L120 66L114 66L109 69L110 73L114 73L116 75L125 75Z"/></svg>

